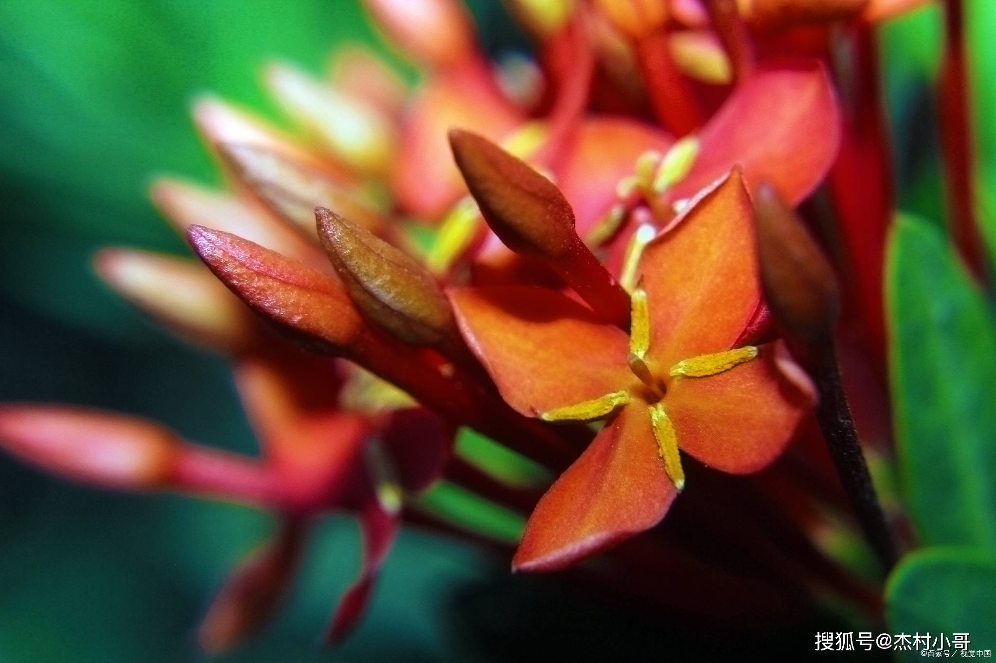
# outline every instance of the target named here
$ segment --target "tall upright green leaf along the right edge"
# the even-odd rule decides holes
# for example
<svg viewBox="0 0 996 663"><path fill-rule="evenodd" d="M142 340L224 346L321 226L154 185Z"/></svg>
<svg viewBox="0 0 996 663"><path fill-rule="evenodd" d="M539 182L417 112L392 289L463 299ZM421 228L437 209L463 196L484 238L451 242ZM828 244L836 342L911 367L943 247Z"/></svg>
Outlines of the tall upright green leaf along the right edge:
<svg viewBox="0 0 996 663"><path fill-rule="evenodd" d="M940 232L900 218L886 298L899 469L925 545L996 549L996 323Z"/></svg>

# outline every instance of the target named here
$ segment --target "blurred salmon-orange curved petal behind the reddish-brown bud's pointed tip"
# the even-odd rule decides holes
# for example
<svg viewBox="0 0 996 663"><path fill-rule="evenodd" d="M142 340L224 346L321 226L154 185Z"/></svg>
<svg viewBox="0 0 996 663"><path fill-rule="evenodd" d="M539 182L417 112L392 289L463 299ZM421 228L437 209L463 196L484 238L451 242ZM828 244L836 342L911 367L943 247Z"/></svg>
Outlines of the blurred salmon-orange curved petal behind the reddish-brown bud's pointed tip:
<svg viewBox="0 0 996 663"><path fill-rule="evenodd" d="M464 193L446 134L459 127L500 141L524 121L477 70L440 73L405 110L391 187L399 208L435 219Z"/></svg>

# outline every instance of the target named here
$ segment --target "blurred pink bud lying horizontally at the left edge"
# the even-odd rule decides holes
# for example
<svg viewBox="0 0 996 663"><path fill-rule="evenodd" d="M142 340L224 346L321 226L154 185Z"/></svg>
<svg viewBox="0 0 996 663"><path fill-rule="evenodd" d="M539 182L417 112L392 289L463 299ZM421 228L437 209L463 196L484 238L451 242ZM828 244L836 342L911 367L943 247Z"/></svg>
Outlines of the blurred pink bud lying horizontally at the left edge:
<svg viewBox="0 0 996 663"><path fill-rule="evenodd" d="M157 488L179 448L169 430L144 419L48 406L0 407L0 446L73 481L104 488Z"/></svg>

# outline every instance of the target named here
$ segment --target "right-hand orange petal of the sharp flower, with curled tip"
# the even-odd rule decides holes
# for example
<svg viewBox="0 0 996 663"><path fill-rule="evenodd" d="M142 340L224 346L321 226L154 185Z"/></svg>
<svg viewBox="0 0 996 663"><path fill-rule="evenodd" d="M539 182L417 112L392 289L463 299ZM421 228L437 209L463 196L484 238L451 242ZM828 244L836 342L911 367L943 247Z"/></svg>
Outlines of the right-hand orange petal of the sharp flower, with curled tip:
<svg viewBox="0 0 996 663"><path fill-rule="evenodd" d="M760 351L724 373L671 381L664 410L682 451L732 474L756 472L782 453L813 404L812 393L796 386L799 372L783 373L794 364L774 345Z"/></svg>

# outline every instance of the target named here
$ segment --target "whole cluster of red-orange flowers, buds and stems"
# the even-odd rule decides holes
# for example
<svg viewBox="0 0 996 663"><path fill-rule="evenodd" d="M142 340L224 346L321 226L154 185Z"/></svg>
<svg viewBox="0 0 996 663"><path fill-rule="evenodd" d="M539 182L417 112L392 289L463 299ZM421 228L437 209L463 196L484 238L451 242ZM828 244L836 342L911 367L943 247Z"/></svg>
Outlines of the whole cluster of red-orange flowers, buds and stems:
<svg viewBox="0 0 996 663"><path fill-rule="evenodd" d="M852 72L832 56L919 3L510 0L535 59L500 64L456 0L365 4L420 67L417 85L350 47L328 79L266 68L293 136L198 100L229 187L163 179L151 196L202 264L134 249L96 259L142 311L231 359L260 456L24 404L0 409L3 447L106 488L272 512L272 539L206 614L211 651L263 623L315 519L342 510L364 541L329 631L345 634L402 518L452 530L406 506L443 476L529 510L514 570L618 555L596 572L619 586L634 573L688 582L702 592L682 599L695 609L716 609L730 587L753 609L800 578L867 597L808 537L819 513L846 511L813 425L839 293L795 208L827 182L848 265L844 325L880 378L888 208L872 196L858 209L849 187L863 173L887 198L889 177L853 130L855 113L877 117L876 97L844 104L835 83L865 84L873 58ZM464 426L558 477L538 501L502 484L451 454ZM763 478L712 471L754 474L793 439ZM616 548L682 491L673 530ZM767 525L751 521L758 510ZM730 546L707 556L715 568L695 560L709 541ZM745 542L768 565L757 577L730 563Z"/></svg>

